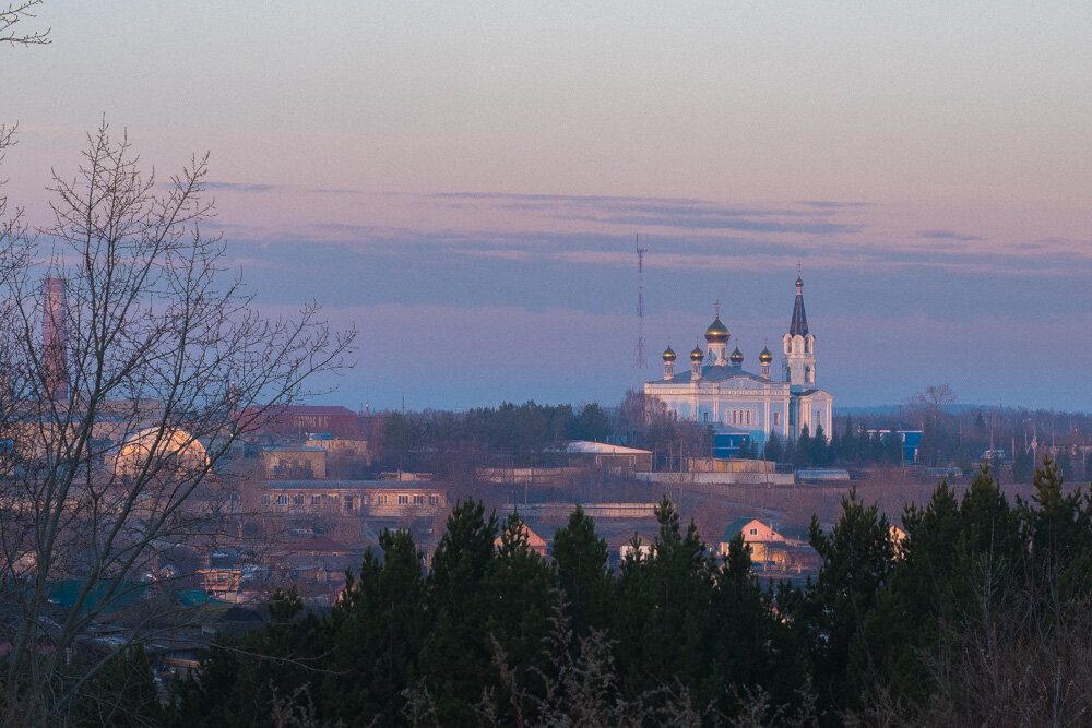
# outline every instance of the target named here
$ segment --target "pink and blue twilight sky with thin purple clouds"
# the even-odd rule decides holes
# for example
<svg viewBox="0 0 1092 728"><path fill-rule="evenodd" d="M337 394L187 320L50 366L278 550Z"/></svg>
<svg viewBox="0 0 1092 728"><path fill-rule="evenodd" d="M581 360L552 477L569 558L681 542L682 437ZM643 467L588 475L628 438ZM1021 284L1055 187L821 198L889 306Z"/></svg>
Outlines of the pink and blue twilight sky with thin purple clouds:
<svg viewBox="0 0 1092 728"><path fill-rule="evenodd" d="M103 119L161 178L209 152L206 229L258 305L359 332L322 402L614 404L715 301L757 369L799 265L835 406L947 383L1092 409L1092 3L45 0L24 23L52 43L0 46L11 203L46 225Z"/></svg>

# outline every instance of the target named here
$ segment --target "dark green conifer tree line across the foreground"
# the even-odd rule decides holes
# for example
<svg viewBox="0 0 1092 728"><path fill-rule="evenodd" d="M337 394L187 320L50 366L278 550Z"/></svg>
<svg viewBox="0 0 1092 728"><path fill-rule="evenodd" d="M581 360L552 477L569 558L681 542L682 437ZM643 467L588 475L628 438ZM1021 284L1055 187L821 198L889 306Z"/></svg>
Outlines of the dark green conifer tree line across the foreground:
<svg viewBox="0 0 1092 728"><path fill-rule="evenodd" d="M178 725L1058 725L1092 709L1092 500L1049 460L1030 501L941 481L904 535L850 491L803 586L761 584L666 500L607 568L579 509L534 553L459 504L423 569L384 533L324 616L280 594L262 630L176 685ZM499 546L495 540L499 534ZM283 724L282 724L283 725Z"/></svg>

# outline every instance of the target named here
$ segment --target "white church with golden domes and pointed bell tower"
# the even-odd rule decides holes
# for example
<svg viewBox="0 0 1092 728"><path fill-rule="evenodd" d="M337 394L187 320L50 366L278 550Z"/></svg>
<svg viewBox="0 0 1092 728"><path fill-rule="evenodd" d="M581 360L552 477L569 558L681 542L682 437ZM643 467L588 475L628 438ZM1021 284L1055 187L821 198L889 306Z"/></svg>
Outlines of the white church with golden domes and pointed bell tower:
<svg viewBox="0 0 1092 728"><path fill-rule="evenodd" d="M663 402L678 419L708 422L724 432L748 432L759 449L771 431L784 441L798 438L805 426L811 434L822 427L829 437L834 397L817 384L816 337L804 309L804 281L796 278L779 379L772 374L773 354L768 347L758 356L758 373L752 373L744 369L738 346L728 354L731 336L717 306L705 330L707 348L699 345L690 351L689 371L680 367L676 372L678 356L668 346L663 354L664 377L645 382L644 394Z"/></svg>

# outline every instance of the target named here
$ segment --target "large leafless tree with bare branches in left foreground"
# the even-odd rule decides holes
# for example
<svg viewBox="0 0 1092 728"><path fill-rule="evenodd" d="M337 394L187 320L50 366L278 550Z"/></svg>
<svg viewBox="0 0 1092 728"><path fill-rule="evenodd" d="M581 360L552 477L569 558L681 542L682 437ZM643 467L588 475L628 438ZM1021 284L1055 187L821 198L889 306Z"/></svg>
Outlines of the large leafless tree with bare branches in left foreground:
<svg viewBox="0 0 1092 728"><path fill-rule="evenodd" d="M88 648L104 620L124 628L116 642L146 639L176 586L164 554L213 542L234 515L217 462L345 365L354 332L313 305L264 317L225 271L224 242L201 230L206 158L161 184L104 122L78 172L54 172L52 224L0 226L5 725L73 715L108 659Z"/></svg>

